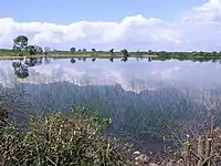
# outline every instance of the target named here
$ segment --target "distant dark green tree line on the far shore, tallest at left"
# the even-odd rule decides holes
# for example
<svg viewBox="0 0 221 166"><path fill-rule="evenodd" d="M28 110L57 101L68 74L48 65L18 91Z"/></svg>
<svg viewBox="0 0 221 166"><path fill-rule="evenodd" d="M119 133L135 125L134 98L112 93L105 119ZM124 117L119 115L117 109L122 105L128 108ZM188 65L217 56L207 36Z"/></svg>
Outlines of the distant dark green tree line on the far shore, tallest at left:
<svg viewBox="0 0 221 166"><path fill-rule="evenodd" d="M19 53L20 55L23 54L30 54L30 55L35 55L35 54L48 54L49 52L52 53L110 53L110 55L114 55L114 53L120 53L123 54L124 59L127 59L129 55L133 56L145 56L145 55L156 55L158 58L162 59L179 59L179 60L187 60L187 59L193 59L193 58L221 58L221 51L212 51L212 52L203 52L203 51L192 51L192 52L166 52L166 51L135 51L135 52L129 52L126 49L123 49L122 51L114 52L114 49L110 49L108 51L97 51L96 49L92 49L91 51L87 51L86 49L76 49L76 48L71 48L70 51L57 51L51 49L49 46L45 46L42 49L40 45L31 45L29 44L29 38L25 35L18 35L13 40L13 48L12 51Z"/></svg>

